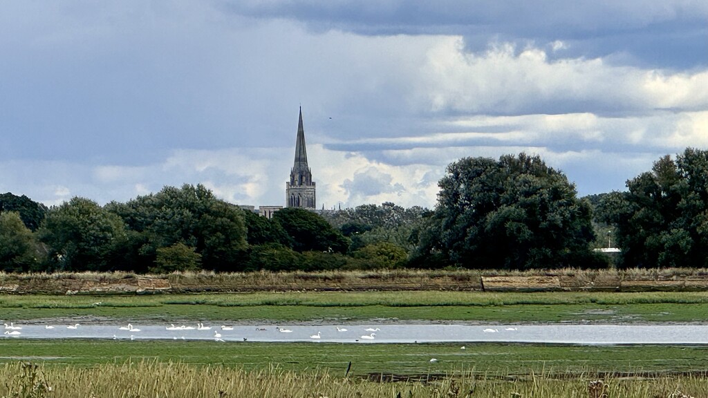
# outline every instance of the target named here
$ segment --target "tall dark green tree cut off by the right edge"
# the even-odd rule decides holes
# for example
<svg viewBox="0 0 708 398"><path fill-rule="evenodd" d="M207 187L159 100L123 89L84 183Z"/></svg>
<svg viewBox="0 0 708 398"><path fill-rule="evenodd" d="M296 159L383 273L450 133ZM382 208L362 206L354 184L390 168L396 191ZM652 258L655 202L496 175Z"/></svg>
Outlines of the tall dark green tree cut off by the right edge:
<svg viewBox="0 0 708 398"><path fill-rule="evenodd" d="M708 266L708 151L662 157L598 205L617 227L622 266Z"/></svg>

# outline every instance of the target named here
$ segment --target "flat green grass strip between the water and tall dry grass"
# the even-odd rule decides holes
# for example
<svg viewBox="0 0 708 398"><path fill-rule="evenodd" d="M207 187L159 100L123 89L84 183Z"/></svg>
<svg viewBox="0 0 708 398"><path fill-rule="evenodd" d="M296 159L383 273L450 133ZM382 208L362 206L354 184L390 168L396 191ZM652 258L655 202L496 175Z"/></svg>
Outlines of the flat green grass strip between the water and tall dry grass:
<svg viewBox="0 0 708 398"><path fill-rule="evenodd" d="M686 373L708 369L704 346L567 346L533 344L216 343L212 341L0 340L0 363L33 360L91 367L157 360L224 365L245 370L303 372L326 369L343 376L369 373ZM430 363L430 358L438 363Z"/></svg>

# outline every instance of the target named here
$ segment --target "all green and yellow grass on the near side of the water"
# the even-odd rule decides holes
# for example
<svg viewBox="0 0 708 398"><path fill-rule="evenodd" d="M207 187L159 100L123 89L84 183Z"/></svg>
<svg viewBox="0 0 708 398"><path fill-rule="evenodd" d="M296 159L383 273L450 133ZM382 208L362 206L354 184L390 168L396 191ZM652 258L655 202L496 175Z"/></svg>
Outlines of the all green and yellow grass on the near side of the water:
<svg viewBox="0 0 708 398"><path fill-rule="evenodd" d="M109 355L115 356L101 358L89 367L56 366L53 365L56 359L47 359L41 365L8 362L0 365L0 380L4 380L0 397L593 397L588 395L588 385L598 377L605 385L601 389L609 397L678 398L682 397L680 392L690 394L685 397L708 394L708 382L701 373L665 373L646 379L623 373L598 374L581 368L583 364L588 368L597 365L593 358L617 370L636 371L643 365L652 368L657 361L649 358L664 358L659 361L664 365L695 363L705 368L704 351L690 347L685 350L642 347L639 351L644 352L639 356L634 347L552 347L555 350L552 356L539 357L533 347L483 345L468 348L469 360L466 360L458 353L459 347L445 345L368 345L348 349L346 345L323 344L321 350L312 350L303 348L303 344L239 343L229 346L229 350L214 351L208 343L184 343L179 348L181 357L202 358L195 364L175 362L173 356L164 356L156 342L79 342L76 348L73 344L47 345L60 347L52 350L36 344L29 347L2 344L1 348L3 352L11 349L10 355L24 351L32 355L73 353L75 356L76 352L101 352L101 348L113 346ZM526 348L530 351L525 353ZM282 358L284 353L287 358ZM204 358L211 355L216 360L204 364ZM430 355L437 355L440 361L430 363ZM268 361L274 356L283 365L271 365ZM560 362L554 362L553 358ZM381 383L380 373L377 378L373 373L361 372L362 368L370 366L373 370L377 365L385 366L386 370L381 372L390 372L401 366L401 359L403 363L420 363L416 368L420 377ZM348 360L353 363L349 373Z"/></svg>

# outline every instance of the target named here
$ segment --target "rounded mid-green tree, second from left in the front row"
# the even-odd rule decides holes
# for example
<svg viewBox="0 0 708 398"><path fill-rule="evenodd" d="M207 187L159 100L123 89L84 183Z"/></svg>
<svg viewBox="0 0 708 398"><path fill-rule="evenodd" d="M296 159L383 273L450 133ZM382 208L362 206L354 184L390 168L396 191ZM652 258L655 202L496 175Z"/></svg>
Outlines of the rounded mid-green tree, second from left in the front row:
<svg viewBox="0 0 708 398"><path fill-rule="evenodd" d="M75 197L52 207L38 234L60 270L110 271L124 266L125 224L93 200Z"/></svg>

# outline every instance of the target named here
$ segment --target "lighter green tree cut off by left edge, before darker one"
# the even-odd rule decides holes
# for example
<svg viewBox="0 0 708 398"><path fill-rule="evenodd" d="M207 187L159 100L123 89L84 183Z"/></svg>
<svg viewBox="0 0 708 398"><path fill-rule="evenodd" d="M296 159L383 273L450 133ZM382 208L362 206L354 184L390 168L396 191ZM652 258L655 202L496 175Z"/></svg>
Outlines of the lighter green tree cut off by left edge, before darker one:
<svg viewBox="0 0 708 398"><path fill-rule="evenodd" d="M38 266L40 253L18 212L0 212L0 271L27 272Z"/></svg>

